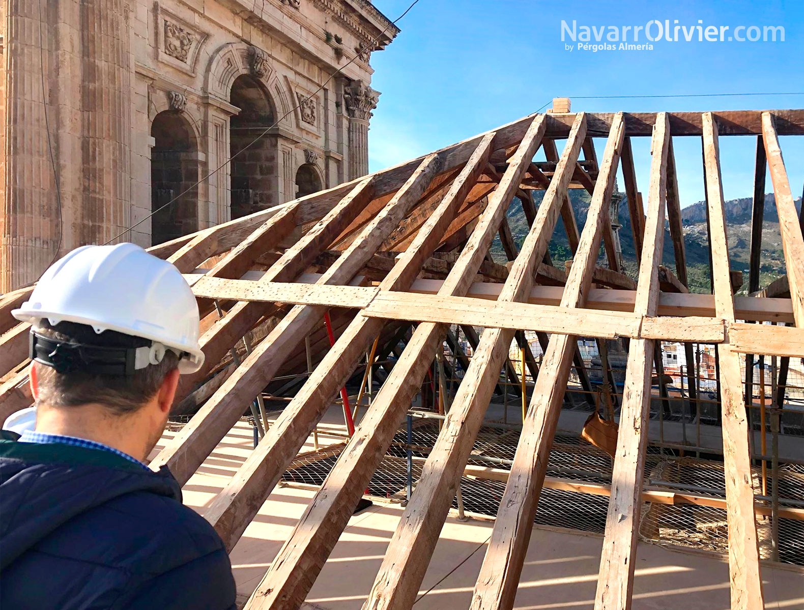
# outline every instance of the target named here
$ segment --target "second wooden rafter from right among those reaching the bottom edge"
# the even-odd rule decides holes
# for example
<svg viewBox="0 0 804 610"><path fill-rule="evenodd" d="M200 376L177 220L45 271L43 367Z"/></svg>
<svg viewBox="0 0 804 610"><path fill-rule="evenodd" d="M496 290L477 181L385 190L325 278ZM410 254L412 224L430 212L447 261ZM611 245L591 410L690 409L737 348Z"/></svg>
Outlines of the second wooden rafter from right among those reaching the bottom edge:
<svg viewBox="0 0 804 610"><path fill-rule="evenodd" d="M658 306L658 266L662 262L671 149L670 125L664 113L659 113L656 119L650 149L653 159L648 215L634 305L634 313L643 316L654 315ZM627 610L631 607L653 362L653 341L636 339L630 342L595 610Z"/></svg>

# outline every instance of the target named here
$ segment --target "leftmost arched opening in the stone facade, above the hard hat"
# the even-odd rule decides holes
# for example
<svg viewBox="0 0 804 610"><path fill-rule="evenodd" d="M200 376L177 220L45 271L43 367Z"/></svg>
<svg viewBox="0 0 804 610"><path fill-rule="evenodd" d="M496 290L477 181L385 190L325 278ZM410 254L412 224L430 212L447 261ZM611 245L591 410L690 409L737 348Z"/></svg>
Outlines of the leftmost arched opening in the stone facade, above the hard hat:
<svg viewBox="0 0 804 610"><path fill-rule="evenodd" d="M198 146L182 113L165 110L151 124L151 243L198 231ZM184 191L187 191L186 193Z"/></svg>

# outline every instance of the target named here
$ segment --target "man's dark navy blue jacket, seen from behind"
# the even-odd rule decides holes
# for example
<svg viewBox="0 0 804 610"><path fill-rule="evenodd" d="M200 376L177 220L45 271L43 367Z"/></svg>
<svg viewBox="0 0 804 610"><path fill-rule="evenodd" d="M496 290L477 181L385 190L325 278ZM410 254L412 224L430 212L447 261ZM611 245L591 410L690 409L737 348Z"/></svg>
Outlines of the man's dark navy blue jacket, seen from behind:
<svg viewBox="0 0 804 610"><path fill-rule="evenodd" d="M167 469L0 440L0 608L230 610L235 583Z"/></svg>

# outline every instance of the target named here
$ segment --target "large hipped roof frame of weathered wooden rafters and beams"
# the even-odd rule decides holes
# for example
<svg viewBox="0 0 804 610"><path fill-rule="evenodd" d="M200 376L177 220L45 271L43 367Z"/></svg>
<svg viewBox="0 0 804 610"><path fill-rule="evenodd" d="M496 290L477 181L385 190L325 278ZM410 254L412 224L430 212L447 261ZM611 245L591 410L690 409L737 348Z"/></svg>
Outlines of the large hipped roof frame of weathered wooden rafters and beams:
<svg viewBox="0 0 804 610"><path fill-rule="evenodd" d="M183 379L179 399L197 391L260 322L273 321L263 338L247 345L240 363L217 378L203 406L155 458L154 468L168 465L182 484L277 376L288 354L322 328L327 312L343 314L334 346L319 350L320 362L309 379L208 507L205 517L230 550L375 339L385 331L383 345L392 342L390 351L400 329L414 324L398 362L247 608L298 608L305 599L447 338L449 324L486 330L364 608L411 608L499 371L512 339L523 341L522 330L539 331L547 349L541 366L528 360L535 390L471 608L514 603L569 371L573 363L578 366L578 336L630 339L595 607L630 608L654 346L666 340L717 344L732 608L761 608L753 489L745 474L750 460L740 358L804 356L804 240L777 141L786 133L804 133L804 111L532 115L424 158L151 248L187 274L204 318L201 343L207 361L203 371ZM761 174L764 182L767 162L790 299L732 296L721 135L757 137L757 177ZM713 295L687 293L673 136L703 139ZM606 138L599 164L593 137ZM633 137L651 140L644 211ZM561 154L556 139L566 139ZM534 162L539 147L547 162ZM620 166L638 254L635 286L621 273L609 223ZM580 230L570 187L592 195ZM761 197L764 183L758 188ZM537 189L545 191L538 207L531 198ZM530 225L521 246L506 220L515 197ZM666 211L675 277L660 269ZM574 257L568 272L553 267L548 254L559 217ZM507 266L487 256L496 236L510 259ZM608 268L597 266L601 244ZM675 285L675 292L662 292L660 282ZM16 324L9 314L29 292L20 289L0 302L5 333L0 417L31 403L27 325ZM746 323L768 320L794 326Z"/></svg>

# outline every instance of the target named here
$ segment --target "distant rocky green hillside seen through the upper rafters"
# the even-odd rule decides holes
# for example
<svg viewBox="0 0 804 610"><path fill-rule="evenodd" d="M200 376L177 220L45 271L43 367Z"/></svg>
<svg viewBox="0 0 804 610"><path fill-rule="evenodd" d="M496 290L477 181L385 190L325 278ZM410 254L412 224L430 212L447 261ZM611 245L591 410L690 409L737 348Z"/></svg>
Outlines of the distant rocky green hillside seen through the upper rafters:
<svg viewBox="0 0 804 610"><path fill-rule="evenodd" d="M534 194L535 203L538 205L544 195L544 191L535 191ZM626 272L630 276L636 277L637 265L634 239L631 234L630 219L628 218L628 203L626 202L625 194L622 194L622 198L620 220L623 226L620 230L620 242L623 260ZM582 227L589 211L590 196L585 190L571 190L570 199L575 210L578 226ZM801 204L801 198L797 199L796 208L800 210ZM732 260L732 269L745 272L747 284L749 244L751 242L751 199L732 199L725 203L725 208L728 222L728 254ZM708 293L710 292L710 287L706 203L702 201L683 208L681 216L684 227L684 244L687 252L687 273L690 280L690 289L692 292ZM508 211L508 223L511 225L511 233L514 238L518 244L521 244L527 234L527 221L518 202L515 202ZM771 193L765 195L762 250L761 285L767 285L771 280L785 272L785 260L781 250L781 235L779 233L779 219L776 203ZM495 259L505 260L503 248L498 241L494 244L493 255ZM564 224L560 218L550 244L550 255L553 263L559 267L562 266L564 260L572 257L568 248L567 235L564 232ZM665 229L662 258L664 264L675 269L673 243L667 227Z"/></svg>

